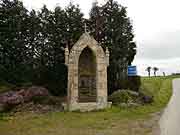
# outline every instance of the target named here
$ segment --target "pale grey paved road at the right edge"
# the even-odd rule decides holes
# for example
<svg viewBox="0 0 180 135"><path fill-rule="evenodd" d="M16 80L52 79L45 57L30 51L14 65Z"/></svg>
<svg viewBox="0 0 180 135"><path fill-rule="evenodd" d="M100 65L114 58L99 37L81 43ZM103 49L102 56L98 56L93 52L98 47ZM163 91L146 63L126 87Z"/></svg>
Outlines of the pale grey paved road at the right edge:
<svg viewBox="0 0 180 135"><path fill-rule="evenodd" d="M180 79L173 80L173 95L159 124L160 135L180 135Z"/></svg>

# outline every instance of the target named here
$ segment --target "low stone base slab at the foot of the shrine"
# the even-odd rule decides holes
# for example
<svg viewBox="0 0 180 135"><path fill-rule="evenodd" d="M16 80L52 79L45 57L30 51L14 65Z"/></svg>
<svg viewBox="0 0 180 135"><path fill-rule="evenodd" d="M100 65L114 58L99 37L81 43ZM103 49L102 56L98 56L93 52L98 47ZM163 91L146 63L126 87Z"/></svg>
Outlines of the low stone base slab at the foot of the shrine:
<svg viewBox="0 0 180 135"><path fill-rule="evenodd" d="M65 111L80 111L80 112L90 112L93 110L101 110L106 108L111 108L112 102L108 102L106 105L100 106L96 102L86 102L77 103L68 107L67 103L62 104Z"/></svg>

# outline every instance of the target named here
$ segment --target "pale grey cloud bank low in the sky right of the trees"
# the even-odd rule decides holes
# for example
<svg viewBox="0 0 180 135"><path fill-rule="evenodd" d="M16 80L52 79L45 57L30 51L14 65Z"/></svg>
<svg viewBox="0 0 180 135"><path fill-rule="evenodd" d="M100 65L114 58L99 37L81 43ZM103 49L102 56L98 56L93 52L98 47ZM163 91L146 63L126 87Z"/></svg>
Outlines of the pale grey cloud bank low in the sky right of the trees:
<svg viewBox="0 0 180 135"><path fill-rule="evenodd" d="M168 59L180 57L180 30L162 32L152 39L138 42L137 58Z"/></svg>

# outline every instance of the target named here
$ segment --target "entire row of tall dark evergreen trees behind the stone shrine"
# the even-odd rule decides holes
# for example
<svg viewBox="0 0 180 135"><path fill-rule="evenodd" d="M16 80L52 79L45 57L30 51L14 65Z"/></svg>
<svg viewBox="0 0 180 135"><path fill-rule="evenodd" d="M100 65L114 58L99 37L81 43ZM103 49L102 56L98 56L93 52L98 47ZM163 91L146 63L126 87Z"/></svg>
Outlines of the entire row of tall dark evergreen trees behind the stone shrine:
<svg viewBox="0 0 180 135"><path fill-rule="evenodd" d="M28 11L19 0L2 0L0 70L3 79L14 84L32 82L54 87L56 95L64 93L67 87L64 47L72 48L84 33L84 23L100 45L109 48L110 92L121 88L121 80L127 78L127 66L136 54L136 43L126 8L113 0L102 6L94 3L90 19L84 19L79 6L72 3L53 11L44 5L37 12Z"/></svg>

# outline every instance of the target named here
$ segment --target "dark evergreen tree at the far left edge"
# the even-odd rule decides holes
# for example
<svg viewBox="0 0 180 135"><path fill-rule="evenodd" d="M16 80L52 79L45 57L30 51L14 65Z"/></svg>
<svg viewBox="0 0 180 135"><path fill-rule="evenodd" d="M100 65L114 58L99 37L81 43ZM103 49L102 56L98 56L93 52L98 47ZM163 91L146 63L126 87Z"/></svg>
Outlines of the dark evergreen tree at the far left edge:
<svg viewBox="0 0 180 135"><path fill-rule="evenodd" d="M0 3L0 64L6 69L6 79L11 83L26 78L27 12L18 0Z"/></svg>

